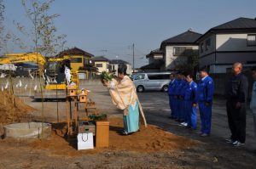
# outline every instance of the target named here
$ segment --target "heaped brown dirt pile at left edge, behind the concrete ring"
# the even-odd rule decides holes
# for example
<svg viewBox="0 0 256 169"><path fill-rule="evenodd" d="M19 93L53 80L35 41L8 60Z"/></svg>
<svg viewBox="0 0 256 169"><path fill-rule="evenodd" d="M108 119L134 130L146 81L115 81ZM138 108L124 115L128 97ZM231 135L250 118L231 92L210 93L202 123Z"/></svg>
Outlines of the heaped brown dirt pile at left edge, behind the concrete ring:
<svg viewBox="0 0 256 169"><path fill-rule="evenodd" d="M0 91L0 95L0 124L19 122L27 113L35 110L8 90Z"/></svg>

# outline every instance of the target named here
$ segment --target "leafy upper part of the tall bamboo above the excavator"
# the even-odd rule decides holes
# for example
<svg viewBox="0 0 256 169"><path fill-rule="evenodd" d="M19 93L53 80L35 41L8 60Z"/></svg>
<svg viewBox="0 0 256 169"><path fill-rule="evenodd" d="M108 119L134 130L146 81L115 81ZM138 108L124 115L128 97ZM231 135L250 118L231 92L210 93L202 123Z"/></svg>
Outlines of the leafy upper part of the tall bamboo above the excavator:
<svg viewBox="0 0 256 169"><path fill-rule="evenodd" d="M57 35L57 29L54 20L60 14L49 14L49 9L54 0L44 1L39 0L21 0L23 7L26 10L26 15L33 25L34 51L43 54L44 56L54 56L61 46L66 41L66 35Z"/></svg>

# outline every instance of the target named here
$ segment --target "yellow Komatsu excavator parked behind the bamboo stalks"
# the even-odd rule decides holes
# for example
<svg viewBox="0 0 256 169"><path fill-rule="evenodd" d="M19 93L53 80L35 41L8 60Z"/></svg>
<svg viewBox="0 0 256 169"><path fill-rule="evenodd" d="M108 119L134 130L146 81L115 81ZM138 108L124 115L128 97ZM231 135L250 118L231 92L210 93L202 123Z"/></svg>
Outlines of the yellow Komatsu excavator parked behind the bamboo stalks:
<svg viewBox="0 0 256 169"><path fill-rule="evenodd" d="M5 54L3 58L0 58L0 65L25 62L38 64L38 76L42 76L44 79L44 100L65 99L67 85L79 87L78 73L72 71L68 57L46 59L39 53L26 53ZM42 99L40 91L35 90L34 99Z"/></svg>

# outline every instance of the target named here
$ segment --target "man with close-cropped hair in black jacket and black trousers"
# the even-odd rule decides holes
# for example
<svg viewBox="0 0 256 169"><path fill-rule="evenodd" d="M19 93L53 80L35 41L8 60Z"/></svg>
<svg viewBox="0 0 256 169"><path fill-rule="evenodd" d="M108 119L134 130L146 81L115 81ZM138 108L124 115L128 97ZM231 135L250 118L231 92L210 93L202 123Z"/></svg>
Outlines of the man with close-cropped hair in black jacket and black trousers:
<svg viewBox="0 0 256 169"><path fill-rule="evenodd" d="M232 67L233 76L226 85L226 108L230 126L231 137L226 142L238 147L246 139L246 102L247 102L247 77L241 74L241 63Z"/></svg>

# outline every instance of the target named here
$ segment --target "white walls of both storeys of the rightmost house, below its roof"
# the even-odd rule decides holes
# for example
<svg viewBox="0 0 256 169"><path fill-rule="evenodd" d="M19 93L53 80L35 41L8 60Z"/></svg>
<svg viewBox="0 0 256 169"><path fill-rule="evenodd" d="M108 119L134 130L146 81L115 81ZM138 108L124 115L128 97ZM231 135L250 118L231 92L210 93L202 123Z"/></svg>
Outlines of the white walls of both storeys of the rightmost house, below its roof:
<svg viewBox="0 0 256 169"><path fill-rule="evenodd" d="M201 53L201 42L199 43L200 67L211 65L210 69L218 73L225 71L226 67L224 65L230 65L235 62L241 62L243 64L246 64L247 61L255 62L256 47L247 46L247 34L250 33L210 34L204 37L204 39L201 39L201 42L206 44L207 39L211 38L211 46L207 51L204 48L204 52ZM212 67L213 65L216 65L214 69Z"/></svg>

